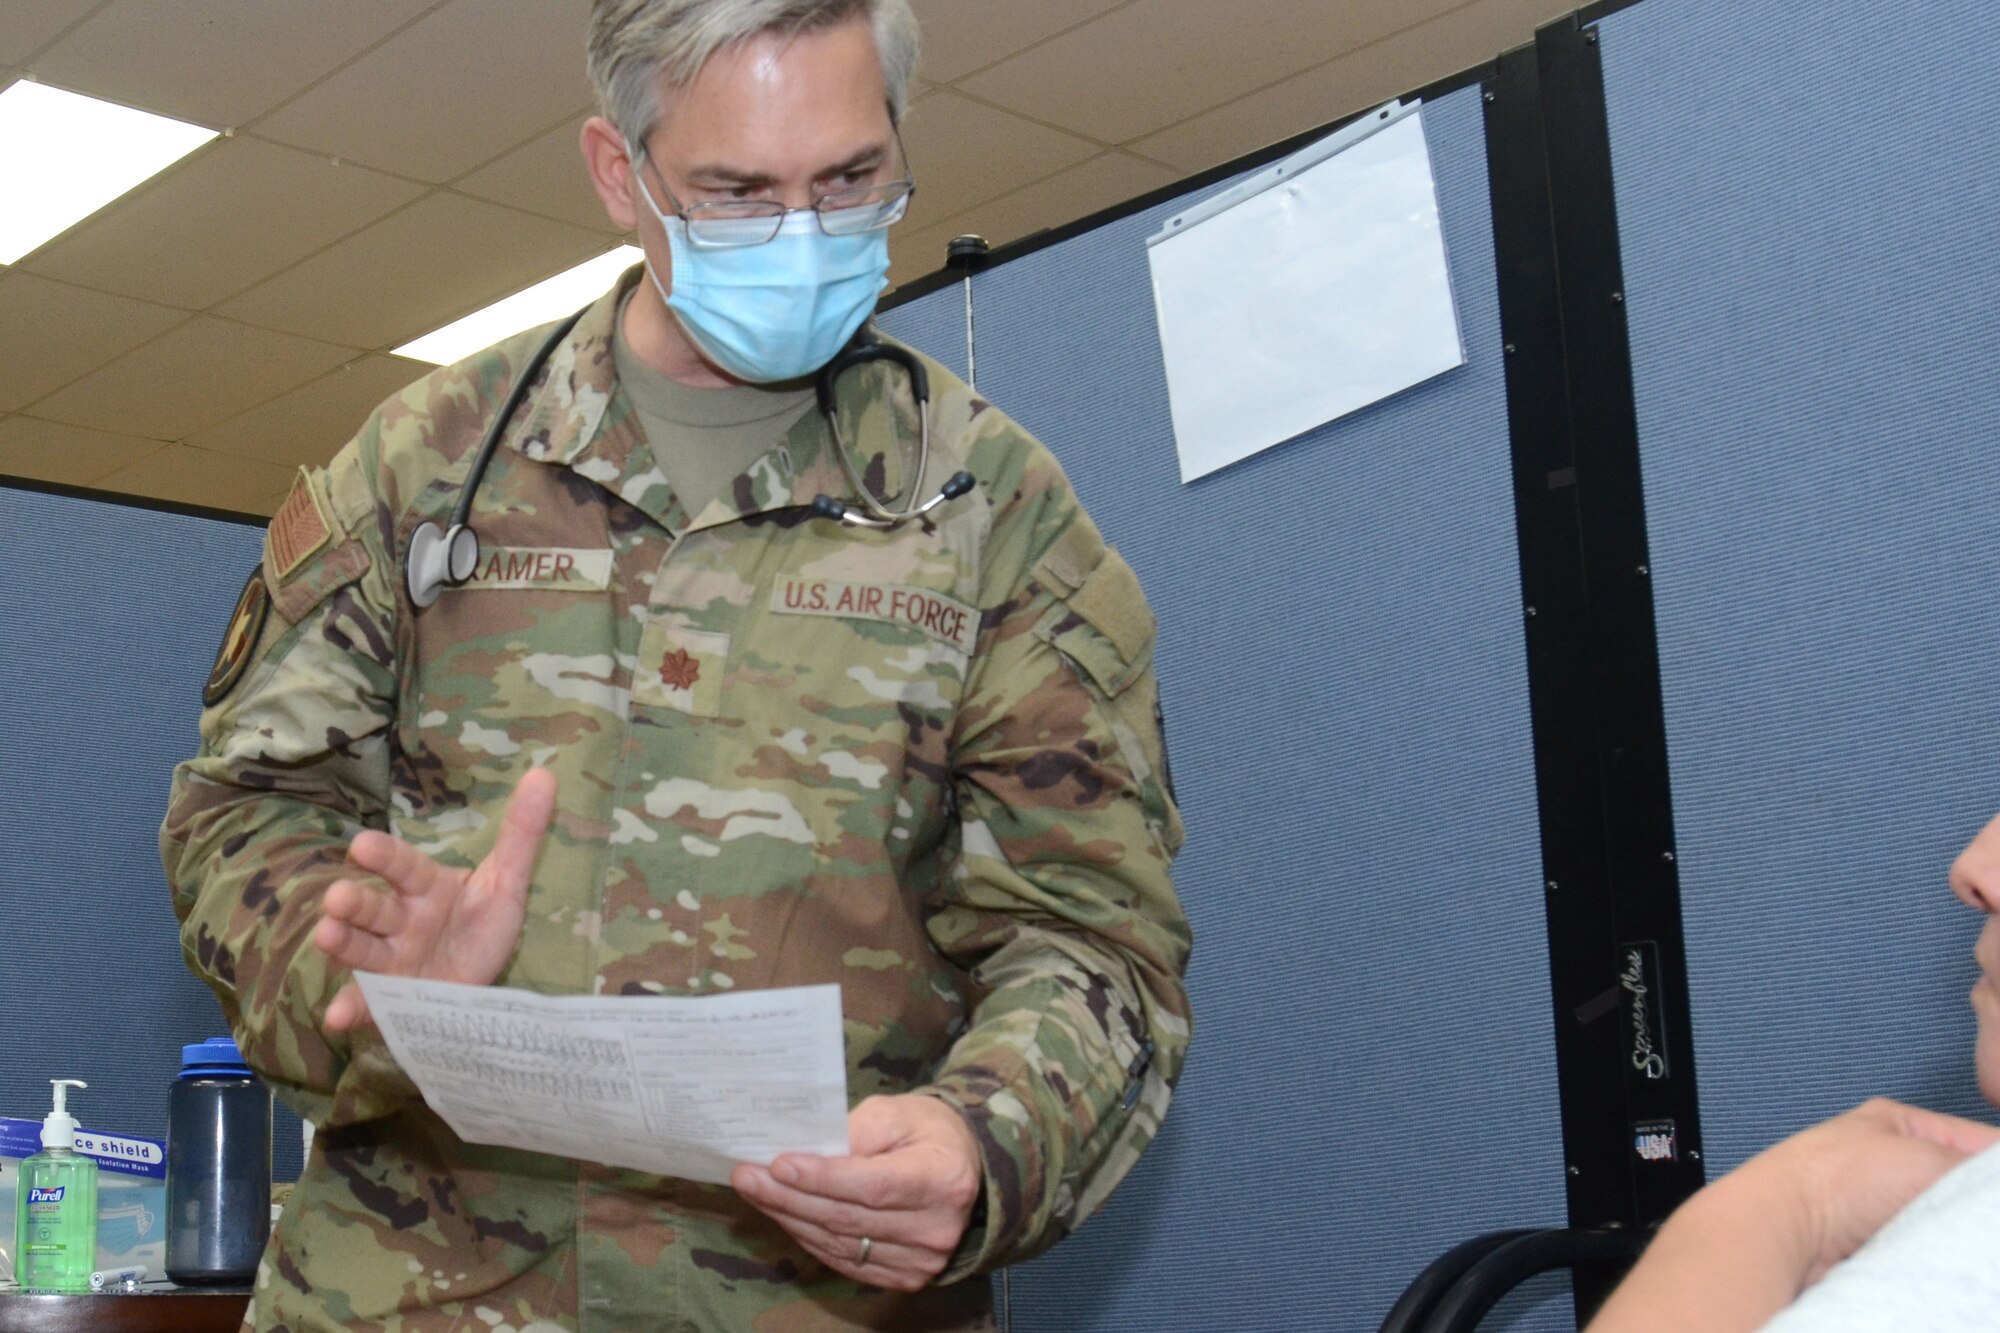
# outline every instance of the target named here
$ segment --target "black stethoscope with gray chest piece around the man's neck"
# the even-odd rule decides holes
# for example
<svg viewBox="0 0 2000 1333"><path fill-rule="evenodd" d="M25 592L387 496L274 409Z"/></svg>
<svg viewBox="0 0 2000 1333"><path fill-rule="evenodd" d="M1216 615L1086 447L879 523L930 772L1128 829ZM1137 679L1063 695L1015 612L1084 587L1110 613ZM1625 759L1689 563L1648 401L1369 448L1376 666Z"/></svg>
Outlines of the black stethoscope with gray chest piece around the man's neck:
<svg viewBox="0 0 2000 1333"><path fill-rule="evenodd" d="M588 310L590 306L584 306ZM410 534L410 548L404 554L404 580L410 586L410 602L418 608L430 606L438 600L444 588L462 588L472 580L472 574L480 566L480 538L472 530L472 500L480 492L480 482L486 480L486 464L492 462L494 448L500 446L500 436L506 434L508 422L514 412L520 410L522 400L528 396L528 388L534 384L536 376L542 374L542 366L554 354L556 346L562 344L570 330L576 328L576 320L584 316L578 310L570 318L562 320L552 334L536 348L534 356L528 358L528 366L522 370L520 378L514 380L514 388L508 390L506 400L494 414L494 424L486 428L486 438L480 440L480 450L472 456L472 468L466 472L466 480L458 486L458 502L452 506L452 516L446 526L436 522L424 522ZM916 478L910 484L912 500L902 508L888 508L862 480L860 468L854 466L854 456L848 452L848 444L840 434L840 420L834 404L834 384L840 376L854 366L866 364L870 360L888 360L902 366L904 374L910 378L910 396L916 398L918 420L922 422L916 446ZM834 518L842 524L856 528L900 528L912 518L922 518L930 510L956 500L974 486L972 472L952 472L950 480L938 488L934 496L924 502L916 502L914 496L924 492L924 470L930 466L930 376L924 374L924 362L916 358L908 348L896 346L892 342L880 342L864 326L838 356L820 368L814 380L814 394L820 404L820 416L826 418L826 428L834 436L834 456L840 458L840 470L846 472L848 484L854 486L854 494L860 496L860 504L848 504L836 500L830 494L818 494L812 498L814 518Z"/></svg>

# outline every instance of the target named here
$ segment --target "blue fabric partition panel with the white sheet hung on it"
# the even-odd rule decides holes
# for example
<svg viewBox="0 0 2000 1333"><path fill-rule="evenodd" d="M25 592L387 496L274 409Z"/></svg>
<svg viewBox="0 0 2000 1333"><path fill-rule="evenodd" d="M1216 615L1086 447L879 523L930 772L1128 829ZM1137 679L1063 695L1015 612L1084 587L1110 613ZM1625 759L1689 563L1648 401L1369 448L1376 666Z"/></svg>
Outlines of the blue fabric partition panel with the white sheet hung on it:
<svg viewBox="0 0 2000 1333"><path fill-rule="evenodd" d="M1456 1241L1564 1221L1478 96L1424 112L1470 364L1192 486L1146 268L1188 200L974 280L980 390L1160 616L1196 939L1166 1133L1010 1275L1016 1333L1374 1329ZM956 286L884 326L964 362ZM1568 1323L1550 1283L1486 1327Z"/></svg>

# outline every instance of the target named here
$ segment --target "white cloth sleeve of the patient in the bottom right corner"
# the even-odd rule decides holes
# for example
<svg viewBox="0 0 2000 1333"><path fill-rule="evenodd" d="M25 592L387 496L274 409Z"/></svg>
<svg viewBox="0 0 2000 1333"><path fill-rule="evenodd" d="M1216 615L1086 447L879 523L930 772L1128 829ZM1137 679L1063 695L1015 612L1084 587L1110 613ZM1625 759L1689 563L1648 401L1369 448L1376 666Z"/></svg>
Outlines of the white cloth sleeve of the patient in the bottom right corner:
<svg viewBox="0 0 2000 1333"><path fill-rule="evenodd" d="M1764 1333L2000 1329L2000 1147L1960 1163Z"/></svg>

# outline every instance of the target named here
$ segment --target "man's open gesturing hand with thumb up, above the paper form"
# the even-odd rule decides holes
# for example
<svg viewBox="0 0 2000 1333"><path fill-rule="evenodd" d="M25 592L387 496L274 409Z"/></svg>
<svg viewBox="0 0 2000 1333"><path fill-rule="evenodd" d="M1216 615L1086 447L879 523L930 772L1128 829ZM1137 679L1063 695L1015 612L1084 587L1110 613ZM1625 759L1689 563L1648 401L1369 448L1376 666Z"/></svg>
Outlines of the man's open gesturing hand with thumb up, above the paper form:
<svg viewBox="0 0 2000 1333"><path fill-rule="evenodd" d="M492 851L470 871L438 865L390 833L356 835L348 865L392 893L336 879L312 929L314 947L352 971L490 985L520 945L528 883L554 813L556 775L530 769L508 797ZM326 1031L364 1023L368 1001L350 981L326 1005Z"/></svg>

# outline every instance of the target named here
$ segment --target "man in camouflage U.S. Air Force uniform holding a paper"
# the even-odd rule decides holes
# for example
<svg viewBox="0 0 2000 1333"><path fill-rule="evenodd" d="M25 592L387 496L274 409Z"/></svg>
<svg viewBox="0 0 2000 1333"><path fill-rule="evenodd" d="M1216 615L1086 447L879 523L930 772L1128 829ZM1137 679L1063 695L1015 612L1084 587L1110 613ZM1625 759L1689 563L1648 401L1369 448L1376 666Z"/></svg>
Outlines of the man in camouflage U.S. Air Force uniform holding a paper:
<svg viewBox="0 0 2000 1333"><path fill-rule="evenodd" d="M710 436L640 400L798 390L726 372L740 348L666 304L706 262L690 218L782 214L816 256L860 216L830 208L900 216L914 20L598 0L592 24L608 116L584 150L650 272L554 346L478 486L480 562L434 604L404 576L412 532L444 522L548 330L426 376L300 476L174 775L190 967L320 1125L252 1323L986 1329L986 1283L958 1279L1106 1199L1188 1043L1152 616L1048 452L934 362L924 484L976 484L926 520L812 516L860 496L792 408L688 502ZM878 496L916 488L900 368L848 370L834 416ZM550 995L838 983L850 1157L716 1187L464 1143L350 969Z"/></svg>

